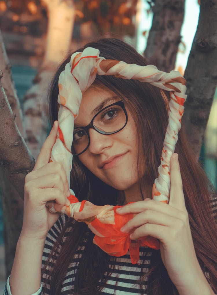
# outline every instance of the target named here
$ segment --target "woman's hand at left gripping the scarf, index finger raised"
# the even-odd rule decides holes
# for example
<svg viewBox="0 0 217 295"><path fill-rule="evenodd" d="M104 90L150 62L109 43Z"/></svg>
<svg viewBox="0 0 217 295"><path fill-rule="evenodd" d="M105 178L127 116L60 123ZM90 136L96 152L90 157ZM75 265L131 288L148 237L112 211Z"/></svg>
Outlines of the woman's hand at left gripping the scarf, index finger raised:
<svg viewBox="0 0 217 295"><path fill-rule="evenodd" d="M59 218L60 213L49 212L46 207L48 201L55 200L56 211L60 211L64 205L70 205L67 199L70 192L66 172L60 163L49 163L57 131L58 121L55 121L41 148L35 167L25 177L24 217L21 231L21 236L25 238L45 240L48 231Z"/></svg>

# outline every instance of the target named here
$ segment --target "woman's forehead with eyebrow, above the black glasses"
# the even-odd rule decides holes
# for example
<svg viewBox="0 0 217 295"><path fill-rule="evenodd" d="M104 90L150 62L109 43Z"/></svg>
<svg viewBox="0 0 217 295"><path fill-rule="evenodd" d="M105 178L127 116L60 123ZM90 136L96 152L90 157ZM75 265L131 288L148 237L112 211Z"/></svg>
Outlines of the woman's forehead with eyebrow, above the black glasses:
<svg viewBox="0 0 217 295"><path fill-rule="evenodd" d="M83 93L79 114L74 122L75 127L89 124L94 114L99 112L100 109L118 100L120 100L120 98L109 89L90 86Z"/></svg>

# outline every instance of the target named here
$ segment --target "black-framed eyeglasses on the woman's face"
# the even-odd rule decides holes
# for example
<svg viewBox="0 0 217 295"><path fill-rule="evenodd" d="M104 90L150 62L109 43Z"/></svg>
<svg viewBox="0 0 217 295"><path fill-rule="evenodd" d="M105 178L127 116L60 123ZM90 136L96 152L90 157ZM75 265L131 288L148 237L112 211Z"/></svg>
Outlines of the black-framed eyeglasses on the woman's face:
<svg viewBox="0 0 217 295"><path fill-rule="evenodd" d="M72 155L84 153L90 145L89 128L110 135L119 132L127 124L128 116L124 102L117 101L99 111L85 127L76 127L73 132Z"/></svg>

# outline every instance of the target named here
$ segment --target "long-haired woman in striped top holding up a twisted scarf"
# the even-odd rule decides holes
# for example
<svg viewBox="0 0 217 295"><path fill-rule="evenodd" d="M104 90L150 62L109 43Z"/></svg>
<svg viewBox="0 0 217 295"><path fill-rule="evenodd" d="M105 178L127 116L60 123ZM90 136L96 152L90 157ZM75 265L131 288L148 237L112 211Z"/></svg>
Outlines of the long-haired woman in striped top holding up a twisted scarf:
<svg viewBox="0 0 217 295"><path fill-rule="evenodd" d="M99 49L106 59L148 64L136 50L117 39L102 39L86 47ZM52 124L59 108L58 78L70 57L60 65L51 83ZM127 204L118 214L133 212L135 216L121 231L130 232L132 241L151 235L159 240L160 250L140 247L141 260L133 265L129 253L114 257L94 245L94 235L85 223L47 210L47 202L55 199L54 208L61 211L68 206L70 195L63 167L48 163L57 136L55 122L33 171L25 178L23 227L5 293L10 287L13 295L40 294L40 282L42 294L52 295L217 293L217 238L212 213L216 195L182 129L175 149L179 160L175 153L170 162L169 204L151 200L168 124L167 91L136 80L97 75L83 93L75 127L87 126L94 115L102 115L102 103L103 109L108 107L103 116L112 117L115 110L111 104L119 101L128 116L119 132L105 135L89 128L89 145L79 150L83 133L74 131L73 148L75 153L78 148L79 155L74 156L71 188L79 201Z"/></svg>

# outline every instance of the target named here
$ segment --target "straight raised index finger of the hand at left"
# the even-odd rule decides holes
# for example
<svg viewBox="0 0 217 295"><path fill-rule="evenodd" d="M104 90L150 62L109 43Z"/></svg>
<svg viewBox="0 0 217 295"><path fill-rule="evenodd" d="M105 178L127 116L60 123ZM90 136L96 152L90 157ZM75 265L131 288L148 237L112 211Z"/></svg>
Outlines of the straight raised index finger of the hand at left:
<svg viewBox="0 0 217 295"><path fill-rule="evenodd" d="M38 158L33 170L39 169L49 162L51 150L53 148L53 145L56 142L58 126L59 126L58 121L54 121L53 127L50 130L50 134L48 135L48 137L46 138L45 142L42 145L42 148L40 150L40 153L38 155Z"/></svg>

